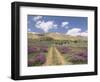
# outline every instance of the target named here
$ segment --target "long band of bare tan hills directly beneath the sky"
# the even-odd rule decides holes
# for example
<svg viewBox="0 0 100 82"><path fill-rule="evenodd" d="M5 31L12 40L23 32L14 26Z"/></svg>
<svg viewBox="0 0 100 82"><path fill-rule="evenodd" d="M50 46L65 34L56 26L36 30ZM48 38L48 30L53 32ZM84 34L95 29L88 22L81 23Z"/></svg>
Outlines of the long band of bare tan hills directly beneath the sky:
<svg viewBox="0 0 100 82"><path fill-rule="evenodd" d="M87 37L84 36L70 36L64 35L60 33L45 33L45 34L37 34L37 33L28 33L28 38L31 39L40 39L40 38L52 38L54 40L87 40Z"/></svg>

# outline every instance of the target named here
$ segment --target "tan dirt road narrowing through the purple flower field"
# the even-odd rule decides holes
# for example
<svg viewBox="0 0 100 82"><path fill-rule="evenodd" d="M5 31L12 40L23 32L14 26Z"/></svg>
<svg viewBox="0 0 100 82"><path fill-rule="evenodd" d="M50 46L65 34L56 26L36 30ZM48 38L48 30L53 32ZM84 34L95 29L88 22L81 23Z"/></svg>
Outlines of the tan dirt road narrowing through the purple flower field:
<svg viewBox="0 0 100 82"><path fill-rule="evenodd" d="M55 46L50 47L48 51L47 61L44 65L65 65L69 64L69 62L65 61L64 57L57 50Z"/></svg>

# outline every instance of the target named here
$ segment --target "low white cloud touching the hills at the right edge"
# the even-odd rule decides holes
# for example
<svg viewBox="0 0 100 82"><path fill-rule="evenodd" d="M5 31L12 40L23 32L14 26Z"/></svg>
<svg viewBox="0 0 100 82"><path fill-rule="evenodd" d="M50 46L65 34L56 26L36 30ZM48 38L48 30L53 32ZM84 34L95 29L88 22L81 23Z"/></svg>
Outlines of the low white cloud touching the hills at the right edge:
<svg viewBox="0 0 100 82"><path fill-rule="evenodd" d="M69 29L66 34L72 36L87 36L87 31L82 32L80 28L72 28Z"/></svg>

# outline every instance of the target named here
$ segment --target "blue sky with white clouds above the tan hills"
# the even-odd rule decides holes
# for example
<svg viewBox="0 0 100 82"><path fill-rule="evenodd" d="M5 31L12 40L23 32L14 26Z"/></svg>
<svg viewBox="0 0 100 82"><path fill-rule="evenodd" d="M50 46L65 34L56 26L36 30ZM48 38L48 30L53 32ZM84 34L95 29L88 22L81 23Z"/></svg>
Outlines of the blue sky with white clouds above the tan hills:
<svg viewBox="0 0 100 82"><path fill-rule="evenodd" d="M87 17L28 15L28 32L87 36Z"/></svg>

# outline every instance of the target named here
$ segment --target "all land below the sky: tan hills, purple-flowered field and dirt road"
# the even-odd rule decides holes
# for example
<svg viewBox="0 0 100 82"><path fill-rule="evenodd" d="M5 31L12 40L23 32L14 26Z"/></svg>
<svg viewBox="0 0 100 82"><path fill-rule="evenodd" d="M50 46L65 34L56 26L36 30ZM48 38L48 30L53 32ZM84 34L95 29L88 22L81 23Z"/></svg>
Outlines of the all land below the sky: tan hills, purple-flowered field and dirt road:
<svg viewBox="0 0 100 82"><path fill-rule="evenodd" d="M87 64L87 38L28 33L28 66ZM33 38L38 37L38 38ZM57 39L60 37L61 39ZM65 39L62 39L64 37Z"/></svg>

